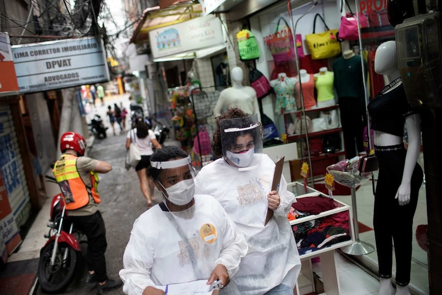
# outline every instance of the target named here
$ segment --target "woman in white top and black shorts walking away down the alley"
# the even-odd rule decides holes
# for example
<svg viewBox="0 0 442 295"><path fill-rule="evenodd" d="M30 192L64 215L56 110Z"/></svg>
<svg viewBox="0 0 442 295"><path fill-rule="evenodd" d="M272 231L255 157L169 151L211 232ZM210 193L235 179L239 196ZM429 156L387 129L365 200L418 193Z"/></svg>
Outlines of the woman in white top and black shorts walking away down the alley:
<svg viewBox="0 0 442 295"><path fill-rule="evenodd" d="M135 128L127 133L126 149L129 149L131 142L138 147L141 155L141 160L136 165L135 171L138 175L141 191L146 198L147 207L150 208L154 196L154 184L153 180L147 177L146 171L150 167L150 156L153 154L152 146L155 149L160 149L162 146L156 140L155 134L149 129L143 117L137 117Z"/></svg>

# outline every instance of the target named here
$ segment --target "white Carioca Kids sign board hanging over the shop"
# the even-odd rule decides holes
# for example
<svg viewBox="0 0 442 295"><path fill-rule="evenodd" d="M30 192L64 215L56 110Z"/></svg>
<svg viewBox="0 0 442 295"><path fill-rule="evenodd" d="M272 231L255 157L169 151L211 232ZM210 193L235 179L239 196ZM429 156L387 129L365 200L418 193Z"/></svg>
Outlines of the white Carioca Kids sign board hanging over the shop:
<svg viewBox="0 0 442 295"><path fill-rule="evenodd" d="M221 21L214 15L149 32L153 58L224 44Z"/></svg>

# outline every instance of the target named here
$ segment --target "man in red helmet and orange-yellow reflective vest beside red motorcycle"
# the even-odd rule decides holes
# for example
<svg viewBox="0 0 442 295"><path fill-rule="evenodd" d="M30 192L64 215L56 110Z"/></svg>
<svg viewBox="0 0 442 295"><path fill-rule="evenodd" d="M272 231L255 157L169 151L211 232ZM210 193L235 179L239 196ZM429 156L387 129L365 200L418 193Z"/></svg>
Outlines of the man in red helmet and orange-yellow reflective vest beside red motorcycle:
<svg viewBox="0 0 442 295"><path fill-rule="evenodd" d="M106 227L98 204L98 174L112 170L112 165L84 156L86 140L75 132L66 132L60 142L61 157L53 173L62 189L69 219L86 234L87 276L85 283L96 283L97 294L118 288L122 281L109 279L106 271Z"/></svg>

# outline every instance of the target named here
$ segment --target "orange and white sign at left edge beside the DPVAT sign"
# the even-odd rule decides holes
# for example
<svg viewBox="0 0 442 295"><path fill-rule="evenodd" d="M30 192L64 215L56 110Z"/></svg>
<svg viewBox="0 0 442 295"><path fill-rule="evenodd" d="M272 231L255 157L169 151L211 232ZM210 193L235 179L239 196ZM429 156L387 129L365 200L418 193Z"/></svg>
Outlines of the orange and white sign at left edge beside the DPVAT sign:
<svg viewBox="0 0 442 295"><path fill-rule="evenodd" d="M17 92L18 84L8 33L0 32L0 96Z"/></svg>

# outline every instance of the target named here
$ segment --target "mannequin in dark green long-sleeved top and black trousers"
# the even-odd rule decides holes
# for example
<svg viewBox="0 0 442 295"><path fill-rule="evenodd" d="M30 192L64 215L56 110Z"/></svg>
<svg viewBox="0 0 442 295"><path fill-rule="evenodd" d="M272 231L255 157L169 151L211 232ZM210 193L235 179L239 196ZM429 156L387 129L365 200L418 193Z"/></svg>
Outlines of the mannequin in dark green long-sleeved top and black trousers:
<svg viewBox="0 0 442 295"><path fill-rule="evenodd" d="M364 69L367 71L366 62ZM367 125L360 56L355 55L353 50L345 50L343 56L333 62L333 73L345 149L347 158L352 159L364 152L363 132Z"/></svg>

